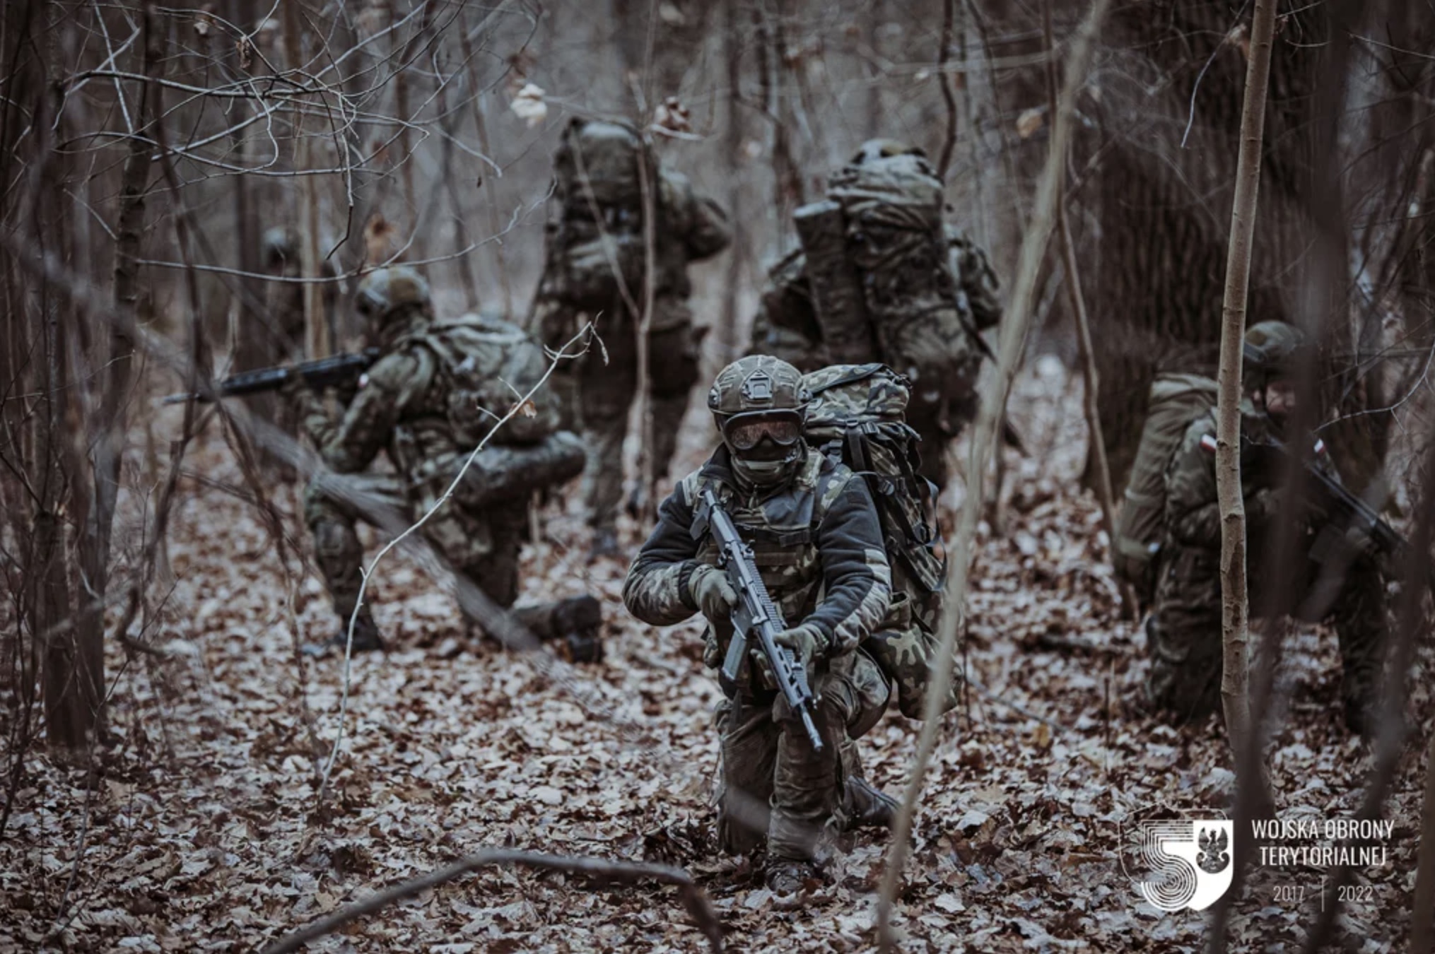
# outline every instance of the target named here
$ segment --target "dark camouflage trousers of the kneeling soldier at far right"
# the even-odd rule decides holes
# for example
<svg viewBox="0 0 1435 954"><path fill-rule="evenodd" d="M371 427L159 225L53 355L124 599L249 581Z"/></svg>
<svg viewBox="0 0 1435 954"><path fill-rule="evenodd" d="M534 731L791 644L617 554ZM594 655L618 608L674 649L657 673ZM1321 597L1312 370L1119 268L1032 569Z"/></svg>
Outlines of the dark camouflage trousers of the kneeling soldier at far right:
<svg viewBox="0 0 1435 954"><path fill-rule="evenodd" d="M1253 559L1253 564L1258 564ZM1171 722L1204 719L1220 706L1221 691L1221 558L1215 551L1192 547L1171 548L1162 554L1157 575L1157 597L1147 620L1151 671L1147 674L1147 700L1164 710ZM1303 603L1322 582L1312 564L1297 582ZM1269 594L1258 580L1248 581L1251 615L1260 614ZM1329 598L1329 597L1333 597ZM1362 724L1365 710L1379 690L1389 634L1385 581L1369 559L1358 559L1335 581L1320 618L1335 624L1340 640L1340 697L1346 720ZM1314 613L1303 613L1316 615Z"/></svg>

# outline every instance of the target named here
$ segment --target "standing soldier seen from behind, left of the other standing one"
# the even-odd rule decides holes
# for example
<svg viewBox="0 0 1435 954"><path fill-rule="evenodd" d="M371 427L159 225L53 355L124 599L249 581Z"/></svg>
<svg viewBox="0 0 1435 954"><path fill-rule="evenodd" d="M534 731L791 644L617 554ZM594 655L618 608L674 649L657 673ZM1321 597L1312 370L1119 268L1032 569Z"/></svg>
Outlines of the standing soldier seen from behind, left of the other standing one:
<svg viewBox="0 0 1435 954"><path fill-rule="evenodd" d="M623 439L637 393L637 330L646 284L644 181L654 189L657 219L647 336L649 450L654 476L666 475L687 393L697 380L700 334L687 307L687 265L716 255L730 241L718 204L697 195L686 176L662 166L631 128L574 119L554 154L547 261L530 318L530 330L550 349L593 320L603 337L603 349L577 362L575 380L565 382L570 393L577 392L570 397L574 407L581 406L588 450L583 499L594 531L594 557L617 552Z"/></svg>

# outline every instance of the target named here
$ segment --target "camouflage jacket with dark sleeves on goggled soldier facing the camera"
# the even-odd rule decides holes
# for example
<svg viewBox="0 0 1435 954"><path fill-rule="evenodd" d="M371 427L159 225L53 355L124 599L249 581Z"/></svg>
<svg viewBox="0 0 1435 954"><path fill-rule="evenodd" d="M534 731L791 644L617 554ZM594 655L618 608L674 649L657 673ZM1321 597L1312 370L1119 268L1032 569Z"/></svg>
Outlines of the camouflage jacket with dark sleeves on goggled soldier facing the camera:
<svg viewBox="0 0 1435 954"><path fill-rule="evenodd" d="M718 565L702 492L713 488L752 548L788 625L808 624L832 656L851 653L883 621L891 567L867 483L845 465L808 450L798 473L766 493L738 488L726 448L663 501L659 524L629 570L623 601L644 623L669 625L697 611L689 581ZM719 627L719 651L730 628ZM720 657L719 657L720 658Z"/></svg>

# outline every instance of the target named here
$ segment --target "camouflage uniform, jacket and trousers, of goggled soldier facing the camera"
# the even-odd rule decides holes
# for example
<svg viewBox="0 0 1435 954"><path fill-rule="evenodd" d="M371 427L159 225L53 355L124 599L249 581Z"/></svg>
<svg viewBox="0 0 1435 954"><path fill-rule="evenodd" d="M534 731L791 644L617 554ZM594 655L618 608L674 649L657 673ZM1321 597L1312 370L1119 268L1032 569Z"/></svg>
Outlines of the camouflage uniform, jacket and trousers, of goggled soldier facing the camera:
<svg viewBox="0 0 1435 954"><path fill-rule="evenodd" d="M743 359L759 360L772 359ZM819 648L809 671L819 699L814 722L824 740L815 752L781 694L765 687L758 667L749 666L738 686L725 686L729 697L718 707L719 841L725 851L745 852L765 833L769 865L819 862L827 835L862 813L862 802L874 795L861 779L851 740L875 724L890 699L887 680L862 643L887 615L891 568L867 485L845 465L801 446L772 486L755 486L739 473L725 445L679 482L629 571L623 601L653 625L680 623L699 610L695 580L718 562L700 504L702 492L712 489L751 542L788 625L815 636ZM705 653L710 667L720 664L730 637L729 620L710 620ZM736 792L748 798L738 799ZM769 805L763 831L761 815Z"/></svg>

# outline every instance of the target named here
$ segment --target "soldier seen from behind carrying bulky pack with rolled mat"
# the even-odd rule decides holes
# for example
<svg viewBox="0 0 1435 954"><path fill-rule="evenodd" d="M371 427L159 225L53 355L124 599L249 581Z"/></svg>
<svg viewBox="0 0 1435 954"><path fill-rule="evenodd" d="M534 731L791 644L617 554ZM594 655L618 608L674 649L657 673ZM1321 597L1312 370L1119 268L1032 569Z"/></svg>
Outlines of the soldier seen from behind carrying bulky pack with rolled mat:
<svg viewBox="0 0 1435 954"><path fill-rule="evenodd" d="M872 139L794 212L801 248L778 263L752 353L804 372L883 362L913 383L907 423L941 486L947 440L976 415L980 331L1002 318L986 254L943 225L943 188L921 149Z"/></svg>

